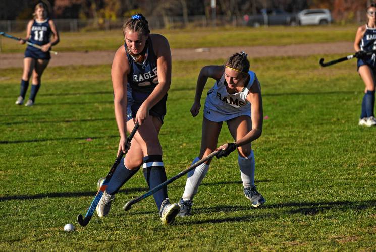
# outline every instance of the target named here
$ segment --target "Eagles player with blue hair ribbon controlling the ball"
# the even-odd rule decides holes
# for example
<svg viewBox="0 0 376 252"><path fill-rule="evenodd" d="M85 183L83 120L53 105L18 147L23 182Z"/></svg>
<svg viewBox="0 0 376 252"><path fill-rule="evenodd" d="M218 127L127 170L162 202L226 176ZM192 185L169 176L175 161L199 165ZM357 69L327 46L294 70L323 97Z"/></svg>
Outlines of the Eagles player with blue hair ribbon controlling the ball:
<svg viewBox="0 0 376 252"><path fill-rule="evenodd" d="M98 206L99 217L110 211L115 194L142 165L149 188L167 180L158 133L166 114L167 91L171 84L171 51L167 39L150 34L142 14L128 19L123 26L125 44L115 53L111 76L114 88L115 117L120 133L118 155L125 152L126 131L135 123L140 127L131 142L128 155L117 167ZM170 204L167 187L156 192L154 200L164 224L172 223L178 204Z"/></svg>

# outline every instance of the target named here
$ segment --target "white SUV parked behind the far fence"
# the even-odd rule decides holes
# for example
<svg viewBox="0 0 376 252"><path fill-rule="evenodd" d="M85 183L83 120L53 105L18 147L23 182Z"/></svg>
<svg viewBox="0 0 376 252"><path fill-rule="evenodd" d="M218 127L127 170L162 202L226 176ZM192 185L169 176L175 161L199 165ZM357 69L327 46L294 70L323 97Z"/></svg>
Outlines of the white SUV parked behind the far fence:
<svg viewBox="0 0 376 252"><path fill-rule="evenodd" d="M297 16L300 25L326 25L333 22L328 9L305 9Z"/></svg>

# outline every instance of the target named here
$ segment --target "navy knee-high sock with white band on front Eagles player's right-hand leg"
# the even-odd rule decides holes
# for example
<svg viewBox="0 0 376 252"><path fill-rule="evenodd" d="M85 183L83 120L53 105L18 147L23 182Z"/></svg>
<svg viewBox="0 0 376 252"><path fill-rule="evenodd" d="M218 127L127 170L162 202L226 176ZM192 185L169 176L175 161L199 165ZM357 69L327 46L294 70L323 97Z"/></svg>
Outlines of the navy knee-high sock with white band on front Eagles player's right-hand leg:
<svg viewBox="0 0 376 252"><path fill-rule="evenodd" d="M144 157L142 168L149 189L152 189L167 180L162 155L149 155ZM160 204L162 204L162 202L168 197L167 186L154 193L153 196L159 211Z"/></svg>

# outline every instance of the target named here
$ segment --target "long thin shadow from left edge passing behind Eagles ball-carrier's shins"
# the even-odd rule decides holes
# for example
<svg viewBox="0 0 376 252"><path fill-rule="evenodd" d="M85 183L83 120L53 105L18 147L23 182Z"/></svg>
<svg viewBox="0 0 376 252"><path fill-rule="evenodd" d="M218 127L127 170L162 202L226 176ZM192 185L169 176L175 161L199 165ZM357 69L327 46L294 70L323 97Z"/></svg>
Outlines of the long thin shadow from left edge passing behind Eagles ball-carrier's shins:
<svg viewBox="0 0 376 252"><path fill-rule="evenodd" d="M119 193L144 193L147 191L146 187L138 188L127 188L120 190ZM0 197L0 202L10 201L10 200L36 200L43 198L61 198L61 197L82 197L82 196L92 196L96 195L97 191L87 191L87 192L62 192L62 193L47 193L47 194L34 194L34 195L13 195Z"/></svg>

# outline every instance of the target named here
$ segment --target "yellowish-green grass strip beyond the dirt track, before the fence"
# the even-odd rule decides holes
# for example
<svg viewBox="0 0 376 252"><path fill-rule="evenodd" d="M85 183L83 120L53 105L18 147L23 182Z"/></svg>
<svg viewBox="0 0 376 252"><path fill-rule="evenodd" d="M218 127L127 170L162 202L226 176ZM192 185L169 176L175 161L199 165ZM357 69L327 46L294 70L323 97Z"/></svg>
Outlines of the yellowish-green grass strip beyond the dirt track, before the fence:
<svg viewBox="0 0 376 252"><path fill-rule="evenodd" d="M316 42L353 41L356 25L330 26L271 26L271 27L217 27L185 30L153 30L166 36L172 48L213 46L288 45ZM12 33L25 37L25 33ZM121 30L109 32L62 32L61 42L53 47L61 51L116 50L124 43ZM218 39L218 38L221 39ZM0 36L2 52L23 52L24 46L15 40ZM230 42L229 42L230 41Z"/></svg>

